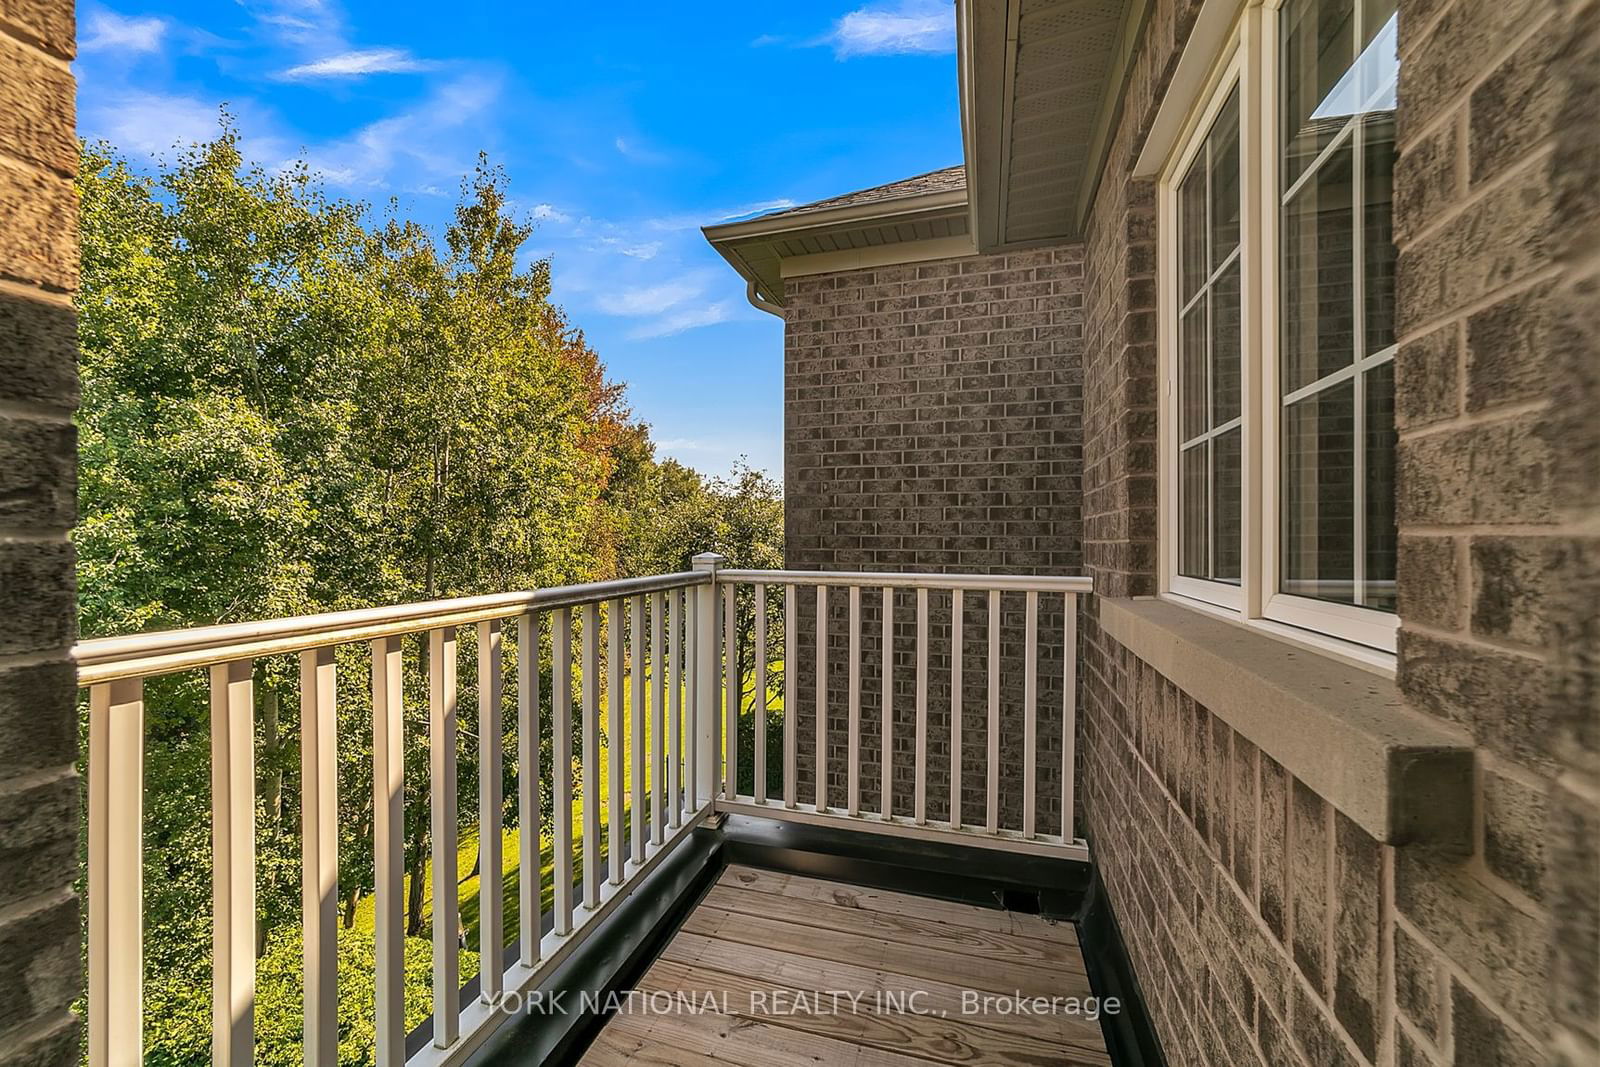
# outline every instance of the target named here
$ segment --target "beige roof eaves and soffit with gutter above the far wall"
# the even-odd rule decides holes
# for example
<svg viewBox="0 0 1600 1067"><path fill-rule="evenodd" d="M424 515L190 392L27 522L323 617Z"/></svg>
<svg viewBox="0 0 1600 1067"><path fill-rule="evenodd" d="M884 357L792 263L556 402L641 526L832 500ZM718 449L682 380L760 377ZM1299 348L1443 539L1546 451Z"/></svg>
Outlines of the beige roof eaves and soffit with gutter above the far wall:
<svg viewBox="0 0 1600 1067"><path fill-rule="evenodd" d="M1154 0L957 3L962 166L707 226L750 301L786 278L1080 240Z"/></svg>

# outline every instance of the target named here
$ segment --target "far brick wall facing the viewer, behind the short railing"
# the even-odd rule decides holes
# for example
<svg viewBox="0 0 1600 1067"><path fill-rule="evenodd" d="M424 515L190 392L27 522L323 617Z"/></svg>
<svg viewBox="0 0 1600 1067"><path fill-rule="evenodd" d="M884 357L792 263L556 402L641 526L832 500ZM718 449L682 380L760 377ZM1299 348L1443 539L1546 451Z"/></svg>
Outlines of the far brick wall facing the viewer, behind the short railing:
<svg viewBox="0 0 1600 1067"><path fill-rule="evenodd" d="M1078 246L966 256L792 278L784 331L786 557L800 569L1078 574ZM862 605L862 805L878 809L882 609ZM814 633L814 600L802 600ZM845 803L848 601L834 590L829 637L829 801ZM896 603L896 805L909 813L915 737L915 605ZM984 814L987 608L965 601L963 817ZM1022 597L1002 601L1002 760L1022 760ZM950 600L930 605L930 814L949 809ZM1040 606L1040 707L1061 707L1061 601ZM814 645L802 641L800 736L814 729ZM810 747L810 745L806 745ZM1059 717L1040 718L1040 825L1059 827ZM814 763L802 758L800 795ZM1021 774L1002 782L1019 825Z"/></svg>

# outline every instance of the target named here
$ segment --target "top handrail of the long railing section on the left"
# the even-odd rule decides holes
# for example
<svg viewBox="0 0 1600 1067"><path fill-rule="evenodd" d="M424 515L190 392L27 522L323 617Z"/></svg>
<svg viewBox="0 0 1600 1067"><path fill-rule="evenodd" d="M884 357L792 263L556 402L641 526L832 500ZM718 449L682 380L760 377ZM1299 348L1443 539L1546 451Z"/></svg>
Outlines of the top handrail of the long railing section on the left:
<svg viewBox="0 0 1600 1067"><path fill-rule="evenodd" d="M379 637L395 637L448 625L470 625L506 619L528 611L574 608L619 597L637 597L669 589L685 589L710 581L710 571L677 571L643 577L618 577L579 585L550 585L533 590L424 600L381 608L325 611L322 614L224 622L184 630L150 630L122 637L78 641L72 656L78 683L94 685L117 678L171 673L192 667L298 653L326 645L347 645Z"/></svg>

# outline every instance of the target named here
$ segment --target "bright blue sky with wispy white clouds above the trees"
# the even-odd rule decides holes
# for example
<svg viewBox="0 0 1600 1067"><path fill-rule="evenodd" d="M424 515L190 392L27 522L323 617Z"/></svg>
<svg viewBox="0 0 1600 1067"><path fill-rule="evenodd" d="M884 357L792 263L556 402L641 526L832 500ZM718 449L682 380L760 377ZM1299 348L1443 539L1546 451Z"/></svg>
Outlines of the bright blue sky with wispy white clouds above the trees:
<svg viewBox="0 0 1600 1067"><path fill-rule="evenodd" d="M664 454L782 466L782 328L699 227L960 162L950 0L98 0L78 125L134 158L218 107L267 166L440 224L480 149Z"/></svg>

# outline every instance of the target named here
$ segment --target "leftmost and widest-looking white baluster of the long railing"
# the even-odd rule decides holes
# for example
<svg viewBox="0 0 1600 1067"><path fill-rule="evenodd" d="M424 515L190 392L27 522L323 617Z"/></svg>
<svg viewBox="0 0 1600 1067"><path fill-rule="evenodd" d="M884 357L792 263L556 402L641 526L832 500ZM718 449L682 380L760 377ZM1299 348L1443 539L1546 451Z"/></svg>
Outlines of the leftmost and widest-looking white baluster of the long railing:
<svg viewBox="0 0 1600 1067"><path fill-rule="evenodd" d="M144 681L90 688L90 1064L144 1059Z"/></svg>

